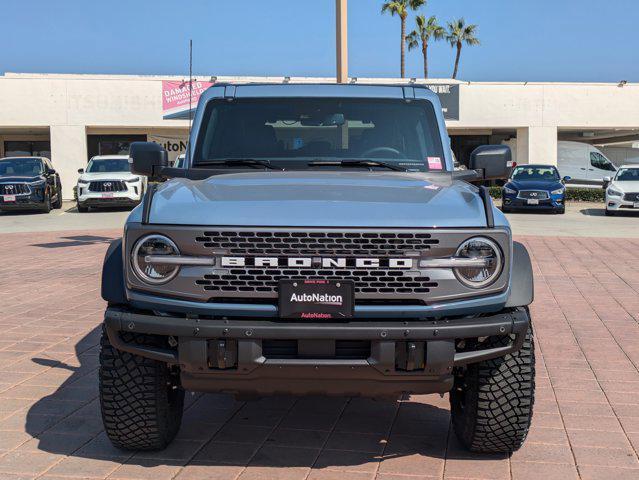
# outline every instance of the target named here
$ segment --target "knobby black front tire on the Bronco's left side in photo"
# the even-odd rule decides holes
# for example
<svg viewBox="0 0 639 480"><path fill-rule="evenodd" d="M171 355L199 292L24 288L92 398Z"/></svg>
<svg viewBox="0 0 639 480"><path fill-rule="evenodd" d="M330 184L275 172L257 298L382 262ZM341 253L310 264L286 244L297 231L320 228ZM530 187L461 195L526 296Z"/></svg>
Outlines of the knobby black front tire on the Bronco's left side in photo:
<svg viewBox="0 0 639 480"><path fill-rule="evenodd" d="M126 342L162 346L151 335L121 334ZM180 429L184 390L179 376L163 362L122 352L102 330L100 406L107 436L118 448L161 450Z"/></svg>

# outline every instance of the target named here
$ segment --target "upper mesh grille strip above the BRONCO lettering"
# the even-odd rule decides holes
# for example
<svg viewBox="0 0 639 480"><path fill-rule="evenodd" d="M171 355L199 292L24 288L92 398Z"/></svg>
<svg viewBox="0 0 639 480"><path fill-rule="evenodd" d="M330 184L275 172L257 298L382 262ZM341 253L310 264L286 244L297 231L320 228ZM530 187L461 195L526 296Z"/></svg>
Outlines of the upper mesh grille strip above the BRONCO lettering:
<svg viewBox="0 0 639 480"><path fill-rule="evenodd" d="M429 250L439 240L429 233L374 232L204 232L195 239L207 248L239 256L379 256Z"/></svg>

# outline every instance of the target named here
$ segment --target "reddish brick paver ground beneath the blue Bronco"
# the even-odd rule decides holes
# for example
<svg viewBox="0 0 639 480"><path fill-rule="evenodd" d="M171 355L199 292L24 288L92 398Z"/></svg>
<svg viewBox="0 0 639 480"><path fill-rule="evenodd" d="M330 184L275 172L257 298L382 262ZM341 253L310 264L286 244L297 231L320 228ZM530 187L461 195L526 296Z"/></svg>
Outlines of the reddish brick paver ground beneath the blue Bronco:
<svg viewBox="0 0 639 480"><path fill-rule="evenodd" d="M188 395L177 440L131 454L97 397L99 271L116 231L0 236L0 478L639 479L639 240L527 237L537 401L512 457L460 448L448 399Z"/></svg>

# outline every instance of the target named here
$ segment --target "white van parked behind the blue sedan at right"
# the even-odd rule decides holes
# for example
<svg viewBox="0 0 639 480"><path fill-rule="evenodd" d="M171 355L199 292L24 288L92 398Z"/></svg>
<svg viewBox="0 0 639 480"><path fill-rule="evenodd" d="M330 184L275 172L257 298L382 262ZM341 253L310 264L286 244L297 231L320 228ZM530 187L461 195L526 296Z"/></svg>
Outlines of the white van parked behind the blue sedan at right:
<svg viewBox="0 0 639 480"><path fill-rule="evenodd" d="M513 160L517 161L517 140L502 142L510 146ZM549 158L543 163L553 163ZM518 162L519 163L519 162ZM542 163L542 162L539 162ZM581 142L557 142L557 170L559 175L570 177L569 185L601 187L604 177L614 177L617 167L596 147Z"/></svg>

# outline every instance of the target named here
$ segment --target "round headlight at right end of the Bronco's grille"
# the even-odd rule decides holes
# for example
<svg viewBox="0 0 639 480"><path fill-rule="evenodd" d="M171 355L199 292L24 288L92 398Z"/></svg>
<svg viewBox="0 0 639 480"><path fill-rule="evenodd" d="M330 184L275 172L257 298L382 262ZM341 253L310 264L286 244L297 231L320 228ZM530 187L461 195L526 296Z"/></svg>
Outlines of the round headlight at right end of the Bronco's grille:
<svg viewBox="0 0 639 480"><path fill-rule="evenodd" d="M466 240L457 249L458 258L480 260L481 265L460 266L454 269L457 279L470 288L486 287L497 280L503 266L499 246L483 237ZM481 262L483 260L483 262Z"/></svg>

